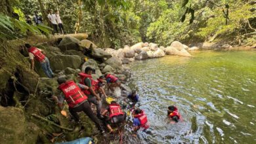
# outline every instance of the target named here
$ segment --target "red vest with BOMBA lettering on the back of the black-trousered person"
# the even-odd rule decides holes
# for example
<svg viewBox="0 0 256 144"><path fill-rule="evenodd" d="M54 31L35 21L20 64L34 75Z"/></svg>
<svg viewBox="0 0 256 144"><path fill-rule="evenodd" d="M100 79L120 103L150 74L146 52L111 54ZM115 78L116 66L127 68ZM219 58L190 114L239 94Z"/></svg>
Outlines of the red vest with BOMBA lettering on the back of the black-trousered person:
<svg viewBox="0 0 256 144"><path fill-rule="evenodd" d="M62 90L68 106L71 108L87 99L87 96L81 91L74 81L62 83L58 88Z"/></svg>

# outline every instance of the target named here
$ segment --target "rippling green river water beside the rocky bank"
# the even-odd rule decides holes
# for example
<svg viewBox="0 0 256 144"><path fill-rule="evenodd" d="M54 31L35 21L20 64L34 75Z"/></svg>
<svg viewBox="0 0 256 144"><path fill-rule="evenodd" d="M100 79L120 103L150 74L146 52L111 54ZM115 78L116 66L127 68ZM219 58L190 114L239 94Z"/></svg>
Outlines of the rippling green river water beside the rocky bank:
<svg viewBox="0 0 256 144"><path fill-rule="evenodd" d="M256 143L256 51L201 51L136 61L129 86L150 122L140 143ZM183 120L170 124L167 107ZM126 141L133 143L133 137ZM128 142L129 143L129 142Z"/></svg>

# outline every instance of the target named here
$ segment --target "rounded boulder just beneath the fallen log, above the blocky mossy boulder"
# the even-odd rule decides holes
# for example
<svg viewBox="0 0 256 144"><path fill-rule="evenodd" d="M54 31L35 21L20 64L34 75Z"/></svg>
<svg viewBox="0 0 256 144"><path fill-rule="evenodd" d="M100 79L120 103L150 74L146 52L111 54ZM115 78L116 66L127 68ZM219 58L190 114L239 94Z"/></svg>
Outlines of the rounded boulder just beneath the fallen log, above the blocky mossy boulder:
<svg viewBox="0 0 256 144"><path fill-rule="evenodd" d="M74 37L64 37L62 41L60 41L60 44L58 44L58 47L60 50L83 50L81 46L79 46L79 40L75 39Z"/></svg>

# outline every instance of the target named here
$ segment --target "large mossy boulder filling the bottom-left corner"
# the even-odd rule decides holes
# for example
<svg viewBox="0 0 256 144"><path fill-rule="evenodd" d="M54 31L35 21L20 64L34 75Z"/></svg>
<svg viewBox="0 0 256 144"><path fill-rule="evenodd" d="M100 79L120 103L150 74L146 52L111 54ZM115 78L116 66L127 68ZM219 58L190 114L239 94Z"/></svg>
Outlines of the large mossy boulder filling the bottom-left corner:
<svg viewBox="0 0 256 144"><path fill-rule="evenodd" d="M0 106L0 115L1 143L26 143L26 119L22 109Z"/></svg>

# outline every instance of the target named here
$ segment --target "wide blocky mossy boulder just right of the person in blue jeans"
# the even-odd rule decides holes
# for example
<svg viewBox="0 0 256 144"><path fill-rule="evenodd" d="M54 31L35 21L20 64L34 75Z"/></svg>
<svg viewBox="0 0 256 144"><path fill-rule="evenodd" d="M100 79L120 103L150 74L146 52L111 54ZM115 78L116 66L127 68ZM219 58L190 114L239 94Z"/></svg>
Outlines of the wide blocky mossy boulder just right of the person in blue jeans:
<svg viewBox="0 0 256 144"><path fill-rule="evenodd" d="M80 56L76 55L56 55L50 58L51 68L54 70L66 69L66 67L71 67L72 69L77 69L81 65Z"/></svg>

